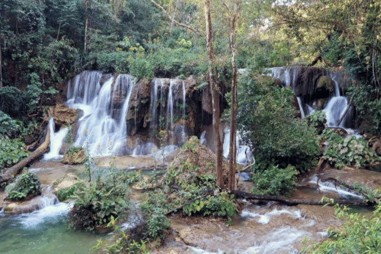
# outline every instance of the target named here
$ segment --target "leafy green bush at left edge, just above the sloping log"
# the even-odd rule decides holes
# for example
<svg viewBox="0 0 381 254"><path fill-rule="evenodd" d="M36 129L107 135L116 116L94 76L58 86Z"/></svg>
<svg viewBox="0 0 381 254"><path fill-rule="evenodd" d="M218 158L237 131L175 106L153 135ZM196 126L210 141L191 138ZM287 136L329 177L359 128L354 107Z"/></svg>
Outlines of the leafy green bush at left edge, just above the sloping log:
<svg viewBox="0 0 381 254"><path fill-rule="evenodd" d="M24 148L25 144L17 139L0 139L0 167L11 167L28 157Z"/></svg>

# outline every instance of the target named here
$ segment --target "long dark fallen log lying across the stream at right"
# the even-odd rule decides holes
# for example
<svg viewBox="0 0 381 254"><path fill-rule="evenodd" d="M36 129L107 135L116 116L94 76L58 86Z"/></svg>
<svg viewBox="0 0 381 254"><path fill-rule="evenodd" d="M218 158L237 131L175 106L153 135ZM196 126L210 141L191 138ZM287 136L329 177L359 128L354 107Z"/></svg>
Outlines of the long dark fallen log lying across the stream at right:
<svg viewBox="0 0 381 254"><path fill-rule="evenodd" d="M310 205L322 205L320 200L308 200L308 199L288 199L281 196L268 196L268 195L255 195L245 191L229 191L229 194L234 194L239 198L246 198L249 200L264 200L264 201L277 201L286 205L298 205L298 204L310 204ZM359 201L349 201L334 199L334 204L346 204L346 205L364 205L364 202Z"/></svg>

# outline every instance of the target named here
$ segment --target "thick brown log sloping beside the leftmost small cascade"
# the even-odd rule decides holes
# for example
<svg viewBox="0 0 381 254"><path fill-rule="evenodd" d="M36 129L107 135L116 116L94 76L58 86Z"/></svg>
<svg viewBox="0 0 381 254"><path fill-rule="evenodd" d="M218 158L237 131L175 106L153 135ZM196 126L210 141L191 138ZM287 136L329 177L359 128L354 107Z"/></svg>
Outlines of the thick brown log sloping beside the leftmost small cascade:
<svg viewBox="0 0 381 254"><path fill-rule="evenodd" d="M13 179L17 174L21 172L21 170L25 166L27 166L28 164L36 160L38 157L43 155L49 149L49 145L50 145L50 130L48 128L46 131L46 137L44 142L34 152L32 152L27 158L23 159L22 161L20 161L13 167L8 168L4 174L1 174L0 183L7 182Z"/></svg>

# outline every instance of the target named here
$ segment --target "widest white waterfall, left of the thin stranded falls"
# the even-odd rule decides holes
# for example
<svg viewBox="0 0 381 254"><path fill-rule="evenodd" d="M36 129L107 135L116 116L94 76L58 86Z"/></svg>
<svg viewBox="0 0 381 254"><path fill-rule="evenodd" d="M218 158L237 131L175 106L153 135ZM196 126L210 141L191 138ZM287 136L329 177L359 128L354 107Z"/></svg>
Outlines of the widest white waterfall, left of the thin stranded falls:
<svg viewBox="0 0 381 254"><path fill-rule="evenodd" d="M126 115L135 79L120 74L100 87L100 77L94 78L95 74L77 75L73 90L69 87L67 92L67 105L84 111L74 145L85 147L92 156L118 155L126 144Z"/></svg>

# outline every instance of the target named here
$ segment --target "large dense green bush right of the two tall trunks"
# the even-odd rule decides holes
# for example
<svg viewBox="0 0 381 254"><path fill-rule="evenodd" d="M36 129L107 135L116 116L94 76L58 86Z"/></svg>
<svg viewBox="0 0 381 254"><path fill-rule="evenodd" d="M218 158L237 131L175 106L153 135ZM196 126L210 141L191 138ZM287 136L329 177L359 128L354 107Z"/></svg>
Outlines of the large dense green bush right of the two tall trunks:
<svg viewBox="0 0 381 254"><path fill-rule="evenodd" d="M247 73L239 80L237 128L254 147L260 170L291 164L307 172L319 154L315 128L294 117L293 96L291 89L278 87L268 76Z"/></svg>

